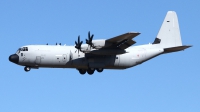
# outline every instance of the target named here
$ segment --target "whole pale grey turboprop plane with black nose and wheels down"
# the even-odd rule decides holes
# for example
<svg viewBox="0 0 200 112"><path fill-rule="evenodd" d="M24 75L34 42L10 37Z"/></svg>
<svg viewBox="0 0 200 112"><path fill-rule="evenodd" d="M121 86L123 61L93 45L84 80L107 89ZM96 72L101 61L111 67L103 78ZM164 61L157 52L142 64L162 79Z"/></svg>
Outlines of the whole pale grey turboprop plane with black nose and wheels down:
<svg viewBox="0 0 200 112"><path fill-rule="evenodd" d="M126 69L141 64L158 55L184 50L176 12L168 11L152 44L132 46L138 32L129 32L110 39L93 40L88 33L86 44L75 41L75 46L27 45L10 55L9 60L31 68L76 68L80 74L93 74L104 69ZM132 46L132 47L130 47Z"/></svg>

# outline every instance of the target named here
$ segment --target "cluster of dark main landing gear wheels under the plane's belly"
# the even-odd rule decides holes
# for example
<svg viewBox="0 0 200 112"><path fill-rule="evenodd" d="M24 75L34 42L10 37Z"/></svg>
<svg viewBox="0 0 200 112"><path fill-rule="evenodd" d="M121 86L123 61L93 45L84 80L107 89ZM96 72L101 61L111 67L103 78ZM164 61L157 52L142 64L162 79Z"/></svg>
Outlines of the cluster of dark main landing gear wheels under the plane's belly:
<svg viewBox="0 0 200 112"><path fill-rule="evenodd" d="M94 71L97 71L97 72L103 72L103 68L88 68L88 69L78 69L79 73L84 75L86 72L89 74L89 75L92 75L94 73Z"/></svg>

